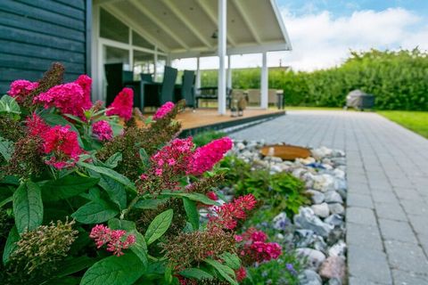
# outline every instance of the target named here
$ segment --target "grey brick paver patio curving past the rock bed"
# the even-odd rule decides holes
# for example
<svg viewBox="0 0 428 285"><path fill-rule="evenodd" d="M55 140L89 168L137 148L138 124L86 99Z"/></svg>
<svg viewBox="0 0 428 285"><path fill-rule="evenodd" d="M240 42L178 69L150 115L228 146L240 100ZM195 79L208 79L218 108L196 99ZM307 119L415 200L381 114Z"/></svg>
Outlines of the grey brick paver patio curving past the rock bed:
<svg viewBox="0 0 428 285"><path fill-rule="evenodd" d="M375 113L321 110L232 137L346 151L350 285L428 284L428 140Z"/></svg>

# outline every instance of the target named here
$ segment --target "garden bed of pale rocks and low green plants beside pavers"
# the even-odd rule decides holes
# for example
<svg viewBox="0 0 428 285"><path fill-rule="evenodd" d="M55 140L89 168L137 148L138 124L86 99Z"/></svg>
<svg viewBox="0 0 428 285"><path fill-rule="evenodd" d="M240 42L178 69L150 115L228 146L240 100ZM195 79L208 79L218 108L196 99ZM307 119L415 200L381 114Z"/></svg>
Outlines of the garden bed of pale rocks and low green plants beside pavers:
<svg viewBox="0 0 428 285"><path fill-rule="evenodd" d="M235 141L232 154L222 163L231 169L232 183L223 189L225 194L251 192L263 199L265 205L248 222L287 248L278 261L249 270L249 280L251 273L255 280L248 284L263 280L266 284L344 283L344 152L322 147L312 150L307 159L284 161L263 158L259 152L263 146L263 142ZM262 175L266 171L269 175ZM295 192L299 186L287 175L304 183L301 193ZM301 196L309 199L301 200Z"/></svg>

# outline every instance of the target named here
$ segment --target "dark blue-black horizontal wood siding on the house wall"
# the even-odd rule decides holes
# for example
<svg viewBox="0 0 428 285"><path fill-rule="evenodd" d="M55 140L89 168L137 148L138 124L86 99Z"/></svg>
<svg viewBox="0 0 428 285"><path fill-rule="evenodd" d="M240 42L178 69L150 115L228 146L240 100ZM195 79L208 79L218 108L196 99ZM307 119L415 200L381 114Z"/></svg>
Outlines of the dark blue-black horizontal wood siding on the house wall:
<svg viewBox="0 0 428 285"><path fill-rule="evenodd" d="M61 61L66 81L90 72L91 0L0 1L0 95Z"/></svg>

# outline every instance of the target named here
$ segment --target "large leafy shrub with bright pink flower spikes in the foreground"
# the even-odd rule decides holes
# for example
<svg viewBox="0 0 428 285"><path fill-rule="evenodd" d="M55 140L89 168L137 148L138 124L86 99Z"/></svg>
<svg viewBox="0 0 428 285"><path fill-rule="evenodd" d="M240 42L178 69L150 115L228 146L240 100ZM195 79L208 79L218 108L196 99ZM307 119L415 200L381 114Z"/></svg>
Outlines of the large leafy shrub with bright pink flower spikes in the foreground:
<svg viewBox="0 0 428 285"><path fill-rule="evenodd" d="M136 122L131 89L104 109L90 77L62 84L62 72L0 99L2 284L237 284L267 259L243 264L234 238L254 196L211 193L229 138L195 147L176 139L180 104Z"/></svg>

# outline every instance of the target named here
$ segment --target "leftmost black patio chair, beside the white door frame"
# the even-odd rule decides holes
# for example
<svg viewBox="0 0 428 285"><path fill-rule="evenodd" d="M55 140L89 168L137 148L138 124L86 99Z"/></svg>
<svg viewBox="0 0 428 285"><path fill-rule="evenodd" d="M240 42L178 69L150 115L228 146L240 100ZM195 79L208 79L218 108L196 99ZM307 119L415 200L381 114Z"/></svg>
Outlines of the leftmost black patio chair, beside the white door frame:
<svg viewBox="0 0 428 285"><path fill-rule="evenodd" d="M104 72L107 79L105 104L109 106L113 102L114 97L126 86L126 83L132 82L134 73L123 70L123 63L106 63L104 64Z"/></svg>

